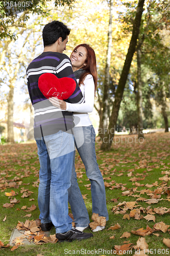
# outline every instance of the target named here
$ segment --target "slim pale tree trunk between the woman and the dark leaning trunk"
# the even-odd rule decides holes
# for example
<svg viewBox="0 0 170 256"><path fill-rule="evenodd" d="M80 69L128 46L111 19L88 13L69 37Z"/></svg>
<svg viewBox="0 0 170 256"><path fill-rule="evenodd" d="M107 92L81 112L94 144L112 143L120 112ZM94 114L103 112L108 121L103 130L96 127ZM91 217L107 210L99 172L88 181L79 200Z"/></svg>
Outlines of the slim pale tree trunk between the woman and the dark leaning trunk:
<svg viewBox="0 0 170 256"><path fill-rule="evenodd" d="M110 0L110 17L109 17L109 29L108 29L108 48L107 48L107 58L106 58L106 68L105 68L105 80L104 80L104 93L103 93L103 113L101 121L101 137L103 138L105 134L105 129L107 128L107 118L108 118L108 90L110 83L110 60L111 60L111 46L112 46L112 16L113 16L113 0Z"/></svg>

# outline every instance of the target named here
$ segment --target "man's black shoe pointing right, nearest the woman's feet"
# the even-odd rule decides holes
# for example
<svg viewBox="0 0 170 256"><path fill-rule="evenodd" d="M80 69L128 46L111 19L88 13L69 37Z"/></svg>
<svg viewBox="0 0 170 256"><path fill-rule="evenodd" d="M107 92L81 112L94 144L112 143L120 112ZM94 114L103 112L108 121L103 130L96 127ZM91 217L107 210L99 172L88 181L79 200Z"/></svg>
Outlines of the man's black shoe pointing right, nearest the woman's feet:
<svg viewBox="0 0 170 256"><path fill-rule="evenodd" d="M82 231L77 230L76 228L72 227L71 230L67 231L66 233L57 233L56 238L58 238L58 242L71 242L73 240L82 240L88 239L93 236L92 233L84 233Z"/></svg>

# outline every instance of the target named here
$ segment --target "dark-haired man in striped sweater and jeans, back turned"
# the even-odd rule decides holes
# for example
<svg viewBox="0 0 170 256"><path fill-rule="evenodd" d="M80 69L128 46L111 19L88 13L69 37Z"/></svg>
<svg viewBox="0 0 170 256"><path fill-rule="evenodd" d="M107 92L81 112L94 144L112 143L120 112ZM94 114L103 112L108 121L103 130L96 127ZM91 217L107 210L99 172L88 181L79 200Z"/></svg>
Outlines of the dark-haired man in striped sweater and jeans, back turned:
<svg viewBox="0 0 170 256"><path fill-rule="evenodd" d="M74 126L72 113L57 109L38 88L38 79L43 73L55 74L58 78L70 77L76 81L66 50L68 29L63 23L53 21L43 28L44 51L27 68L28 90L34 106L34 137L40 161L38 206L41 228L50 230L54 225L59 241L82 240L92 237L72 227L68 216L68 191L74 157ZM77 82L76 82L77 83ZM66 100L81 103L83 95L76 85L75 92Z"/></svg>

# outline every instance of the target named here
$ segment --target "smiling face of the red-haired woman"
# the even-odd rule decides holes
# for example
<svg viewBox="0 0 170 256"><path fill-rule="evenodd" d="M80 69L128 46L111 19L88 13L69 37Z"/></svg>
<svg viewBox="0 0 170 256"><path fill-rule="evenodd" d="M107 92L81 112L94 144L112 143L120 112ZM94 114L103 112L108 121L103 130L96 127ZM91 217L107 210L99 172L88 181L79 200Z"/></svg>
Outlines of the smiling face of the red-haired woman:
<svg viewBox="0 0 170 256"><path fill-rule="evenodd" d="M83 46L80 46L77 48L70 57L72 69L74 71L82 68L83 66L86 66L85 61L87 58L87 51L86 48Z"/></svg>

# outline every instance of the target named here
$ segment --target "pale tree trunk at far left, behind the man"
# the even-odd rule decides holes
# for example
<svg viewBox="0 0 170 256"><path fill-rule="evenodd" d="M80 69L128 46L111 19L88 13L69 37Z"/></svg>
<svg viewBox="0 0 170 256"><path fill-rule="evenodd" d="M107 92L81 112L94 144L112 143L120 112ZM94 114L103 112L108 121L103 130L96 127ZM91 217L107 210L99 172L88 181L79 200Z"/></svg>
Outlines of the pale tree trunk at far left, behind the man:
<svg viewBox="0 0 170 256"><path fill-rule="evenodd" d="M8 94L8 138L7 141L13 143L14 142L14 127L13 127L13 110L14 108L14 87L10 86L9 94Z"/></svg>

